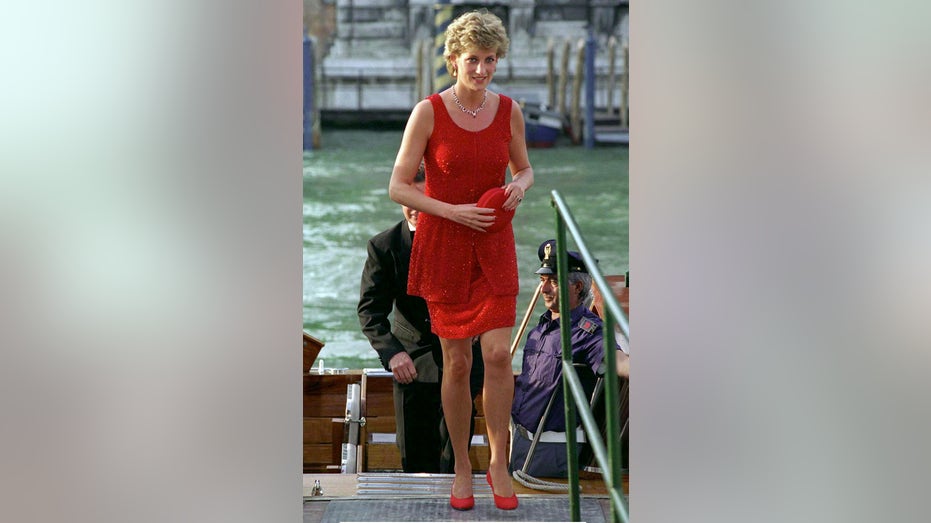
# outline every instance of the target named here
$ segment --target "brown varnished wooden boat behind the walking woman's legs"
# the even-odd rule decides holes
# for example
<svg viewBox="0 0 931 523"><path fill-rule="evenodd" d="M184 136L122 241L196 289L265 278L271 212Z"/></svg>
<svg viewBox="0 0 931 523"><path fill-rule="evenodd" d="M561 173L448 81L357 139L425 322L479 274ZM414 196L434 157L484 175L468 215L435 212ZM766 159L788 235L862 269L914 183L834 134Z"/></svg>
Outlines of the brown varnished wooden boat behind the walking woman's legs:
<svg viewBox="0 0 931 523"><path fill-rule="evenodd" d="M618 302L629 314L629 294L625 276L607 276ZM595 292L593 310L603 307L602 298ZM532 307L531 307L532 308ZM529 313L530 311L528 311ZM447 474L404 474L401 460L395 445L395 420L391 374L379 370L335 370L315 369L314 361L324 343L308 333L304 333L304 521L338 521L333 513L348 510L339 505L335 510L328 507L330 503L344 500L378 501L404 498L407 504L433 503L440 508L448 508L449 489L452 475ZM621 419L627 419L626 380L622 381ZM476 474L474 490L476 498L489 497L491 492L484 482L484 472L488 468L490 452L485 439L485 420L482 410L481 395L476 398L477 410L475 434L469 452L473 473ZM623 431L622 431L623 433ZM625 434L626 435L626 434ZM626 442L626 437L624 440ZM626 443L625 443L626 447ZM625 460L626 461L626 460ZM555 483L566 480L550 479ZM623 480L624 492L628 490L629 477ZM553 506L537 506L534 499L558 500L563 507L567 494L532 490L514 482L514 489L520 496L528 511L538 510L535 521L548 521L552 517L567 521L568 516ZM610 508L601 475L596 467L586 467L582 472L582 496L588 503L587 521L609 521ZM586 501L587 500L587 501ZM477 500L476 507L479 506ZM487 510L494 511L493 505ZM381 505L374 508L358 510L375 510L378 514L369 515L353 513L352 521L397 521L391 519L390 510ZM368 505L365 505L368 506ZM418 505L419 506L419 505ZM534 508L537 506L537 508ZM434 507L436 508L436 507ZM356 509L353 509L356 510ZM388 510L389 512L384 512ZM424 509L428 510L428 509ZM445 509L443 509L445 510ZM494 512L476 510L475 519L459 521L481 521L494 518ZM325 516L327 515L328 516ZM531 512L531 514L533 514ZM469 516L469 517L472 517ZM350 516L345 516L350 517ZM384 519L384 518L388 519ZM560 519L561 518L561 519ZM600 518L600 519L599 519ZM432 521L432 519L431 519Z"/></svg>

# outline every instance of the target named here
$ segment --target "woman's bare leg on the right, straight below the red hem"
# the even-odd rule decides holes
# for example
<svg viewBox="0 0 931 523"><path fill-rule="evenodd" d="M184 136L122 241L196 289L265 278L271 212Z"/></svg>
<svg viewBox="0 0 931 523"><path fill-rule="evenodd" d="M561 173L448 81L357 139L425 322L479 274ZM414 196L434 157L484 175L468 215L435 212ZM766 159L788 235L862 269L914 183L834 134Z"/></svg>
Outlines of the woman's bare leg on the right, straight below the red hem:
<svg viewBox="0 0 931 523"><path fill-rule="evenodd" d="M485 427L491 460L488 472L495 485L495 494L509 497L514 494L508 474L508 423L511 404L514 402L514 371L511 370L511 329L495 329L482 334L482 358L485 360L485 386L482 405L485 409Z"/></svg>

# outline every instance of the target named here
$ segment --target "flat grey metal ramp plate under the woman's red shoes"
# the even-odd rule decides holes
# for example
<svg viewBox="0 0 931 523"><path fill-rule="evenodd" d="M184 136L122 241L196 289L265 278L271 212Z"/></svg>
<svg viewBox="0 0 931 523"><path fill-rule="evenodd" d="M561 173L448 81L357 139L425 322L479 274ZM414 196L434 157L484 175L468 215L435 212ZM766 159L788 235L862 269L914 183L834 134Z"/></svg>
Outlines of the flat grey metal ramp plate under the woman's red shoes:
<svg viewBox="0 0 931 523"><path fill-rule="evenodd" d="M476 496L475 508L460 512L449 506L449 496L432 498L340 499L330 501L323 523L349 521L570 521L569 500L563 497L520 497L516 510L498 510L491 496ZM601 505L581 499L582 521L605 523Z"/></svg>

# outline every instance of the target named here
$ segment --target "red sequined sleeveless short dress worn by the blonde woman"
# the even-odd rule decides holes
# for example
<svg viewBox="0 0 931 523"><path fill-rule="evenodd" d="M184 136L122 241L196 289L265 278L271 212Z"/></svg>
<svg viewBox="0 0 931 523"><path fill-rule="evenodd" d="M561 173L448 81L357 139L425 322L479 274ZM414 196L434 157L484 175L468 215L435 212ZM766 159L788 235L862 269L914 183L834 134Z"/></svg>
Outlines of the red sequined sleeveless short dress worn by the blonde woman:
<svg viewBox="0 0 931 523"><path fill-rule="evenodd" d="M438 94L433 133L424 152L425 194L451 204L475 203L504 186L511 142L511 99L500 103L491 125L467 131L457 125ZM421 296L432 330L442 338L468 338L513 327L517 308L517 254L511 225L478 232L421 213L411 252L408 294Z"/></svg>

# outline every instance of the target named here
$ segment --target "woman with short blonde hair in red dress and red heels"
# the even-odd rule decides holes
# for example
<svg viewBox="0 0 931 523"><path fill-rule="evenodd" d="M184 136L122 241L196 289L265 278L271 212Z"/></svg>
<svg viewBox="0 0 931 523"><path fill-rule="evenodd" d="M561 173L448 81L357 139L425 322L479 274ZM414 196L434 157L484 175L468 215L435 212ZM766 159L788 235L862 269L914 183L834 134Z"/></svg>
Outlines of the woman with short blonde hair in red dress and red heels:
<svg viewBox="0 0 931 523"><path fill-rule="evenodd" d="M443 411L456 459L450 504L458 510L474 505L468 437L475 336L485 361L482 397L491 448L486 479L498 508L517 508L507 470L514 397L509 342L518 293L514 232L509 222L493 227L493 209L476 205L485 191L499 187L506 195L503 209L513 211L533 185L520 107L488 91L508 44L501 20L485 10L450 24L444 57L455 85L414 107L389 184L392 200L421 212L408 294L427 301L443 347ZM423 193L414 187L421 159Z"/></svg>

